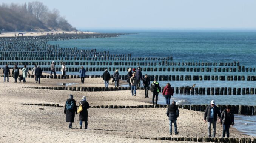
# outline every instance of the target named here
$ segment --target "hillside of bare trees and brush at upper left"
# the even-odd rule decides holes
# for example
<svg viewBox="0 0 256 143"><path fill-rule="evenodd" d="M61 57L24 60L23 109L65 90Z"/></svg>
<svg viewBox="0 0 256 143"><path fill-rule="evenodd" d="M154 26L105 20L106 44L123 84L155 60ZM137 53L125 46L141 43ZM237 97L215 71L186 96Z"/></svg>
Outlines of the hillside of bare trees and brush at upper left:
<svg viewBox="0 0 256 143"><path fill-rule="evenodd" d="M76 30L60 16L57 9L49 10L42 2L33 1L22 5L0 5L0 30L4 31Z"/></svg>

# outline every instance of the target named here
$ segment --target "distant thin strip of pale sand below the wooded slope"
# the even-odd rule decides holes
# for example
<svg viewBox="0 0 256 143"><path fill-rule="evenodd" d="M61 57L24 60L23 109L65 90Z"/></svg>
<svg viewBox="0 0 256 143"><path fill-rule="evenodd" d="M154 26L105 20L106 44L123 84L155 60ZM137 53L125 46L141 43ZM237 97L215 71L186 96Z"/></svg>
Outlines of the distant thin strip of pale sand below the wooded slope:
<svg viewBox="0 0 256 143"><path fill-rule="evenodd" d="M63 32L65 32L66 34L75 34L76 32L74 31L48 31L48 32L2 32L2 34L0 34L0 37L17 37L18 33L25 33L23 34L23 36L42 36L42 35L47 35L53 33L53 34L62 34ZM16 36L15 36L16 33ZM79 33L79 32L77 32ZM95 32L83 32L84 34L94 34ZM22 36L21 34L19 34L19 36Z"/></svg>

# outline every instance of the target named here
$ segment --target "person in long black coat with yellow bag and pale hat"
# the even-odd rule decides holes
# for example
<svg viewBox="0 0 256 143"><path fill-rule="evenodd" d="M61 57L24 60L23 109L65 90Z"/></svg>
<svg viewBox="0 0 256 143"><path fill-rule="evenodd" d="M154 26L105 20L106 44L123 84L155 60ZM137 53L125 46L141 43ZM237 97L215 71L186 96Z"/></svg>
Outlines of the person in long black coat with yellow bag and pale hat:
<svg viewBox="0 0 256 143"><path fill-rule="evenodd" d="M79 102L79 106L82 106L83 110L79 113L79 126L82 129L83 122L85 122L85 129L88 126L88 111L87 109L90 108L89 103L86 101L86 97L83 96L82 101Z"/></svg>

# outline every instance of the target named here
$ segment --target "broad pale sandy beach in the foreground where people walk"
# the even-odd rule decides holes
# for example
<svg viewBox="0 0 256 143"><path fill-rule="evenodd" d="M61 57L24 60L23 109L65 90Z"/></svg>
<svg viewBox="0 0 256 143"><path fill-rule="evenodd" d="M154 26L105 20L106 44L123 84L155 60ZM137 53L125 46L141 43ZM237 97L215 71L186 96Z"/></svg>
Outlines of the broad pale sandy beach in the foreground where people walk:
<svg viewBox="0 0 256 143"><path fill-rule="evenodd" d="M79 92L65 90L30 89L23 87L54 86L56 83L79 83L79 79L41 79L35 84L34 78L27 83L3 83L0 77L2 107L0 131L3 142L167 142L160 140L134 139L133 137L170 137L166 108L132 109L88 109L88 130L79 128L79 116L75 118L74 129L68 129L63 107L17 105L15 103L59 103L64 105L69 94L77 102L86 96L90 105L148 105L150 98L144 98L139 90L136 97L130 91ZM112 83L111 83L112 84ZM102 78L86 78L79 87L103 87ZM113 85L111 85L113 86ZM72 87L72 86L71 86ZM43 108L44 110L39 110ZM202 112L180 109L177 119L178 135L171 137L206 137L207 123ZM222 137L222 126L217 125L216 137ZM248 137L235 128L230 129L230 137ZM249 136L250 137L250 136ZM253 137L251 137L253 138ZM168 141L170 142L170 141Z"/></svg>

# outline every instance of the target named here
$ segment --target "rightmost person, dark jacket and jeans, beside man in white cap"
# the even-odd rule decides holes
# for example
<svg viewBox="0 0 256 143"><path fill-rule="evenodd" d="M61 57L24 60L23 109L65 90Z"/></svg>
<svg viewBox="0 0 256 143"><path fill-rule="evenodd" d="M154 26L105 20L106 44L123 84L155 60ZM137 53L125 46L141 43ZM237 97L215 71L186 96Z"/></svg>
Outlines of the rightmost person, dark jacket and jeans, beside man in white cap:
<svg viewBox="0 0 256 143"><path fill-rule="evenodd" d="M234 113L231 110L231 105L227 105L227 108L221 113L221 125L223 126L222 137L229 137L229 127L234 125Z"/></svg>

